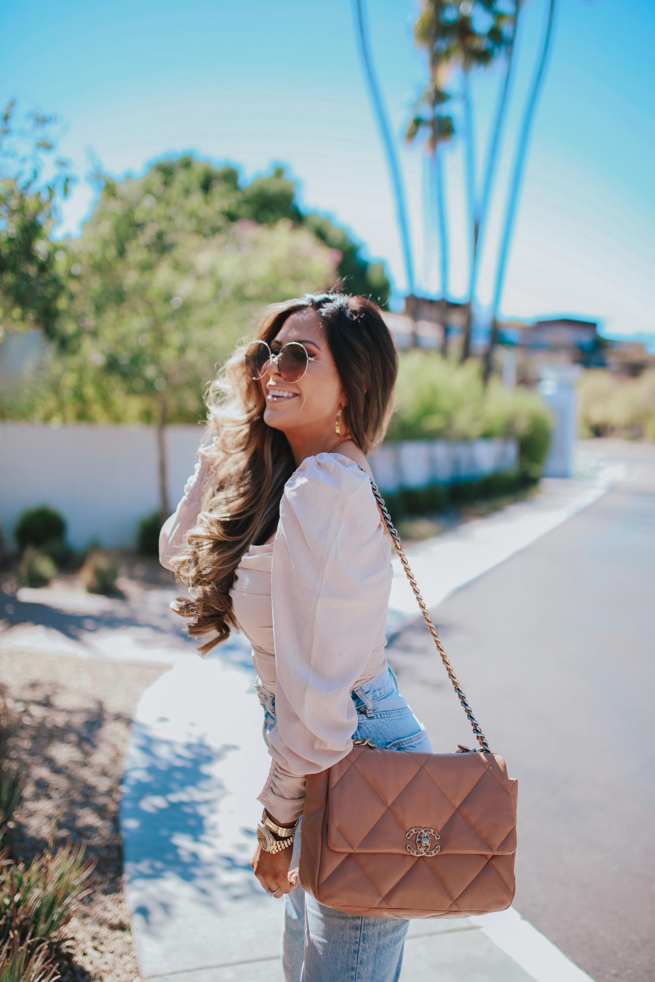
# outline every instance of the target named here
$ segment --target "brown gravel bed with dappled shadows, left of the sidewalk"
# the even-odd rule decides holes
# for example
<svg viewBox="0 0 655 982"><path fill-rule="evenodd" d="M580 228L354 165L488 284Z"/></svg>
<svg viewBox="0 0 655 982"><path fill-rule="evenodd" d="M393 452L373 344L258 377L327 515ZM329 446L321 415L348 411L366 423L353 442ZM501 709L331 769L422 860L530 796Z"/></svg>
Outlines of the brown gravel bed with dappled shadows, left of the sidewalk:
<svg viewBox="0 0 655 982"><path fill-rule="evenodd" d="M83 842L96 861L92 892L66 928L72 941L58 962L62 982L140 978L123 898L118 806L133 710L163 671L0 650L0 681L21 720L14 755L26 780L8 846L30 861L50 838L55 846Z"/></svg>

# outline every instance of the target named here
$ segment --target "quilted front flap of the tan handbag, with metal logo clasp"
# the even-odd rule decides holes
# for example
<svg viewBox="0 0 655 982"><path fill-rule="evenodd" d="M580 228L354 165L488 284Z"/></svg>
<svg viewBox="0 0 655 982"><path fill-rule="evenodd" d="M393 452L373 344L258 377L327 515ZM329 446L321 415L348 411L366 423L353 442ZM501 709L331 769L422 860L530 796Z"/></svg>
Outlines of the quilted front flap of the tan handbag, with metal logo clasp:
<svg viewBox="0 0 655 982"><path fill-rule="evenodd" d="M327 846L334 852L508 855L516 782L492 753L353 747L329 769Z"/></svg>

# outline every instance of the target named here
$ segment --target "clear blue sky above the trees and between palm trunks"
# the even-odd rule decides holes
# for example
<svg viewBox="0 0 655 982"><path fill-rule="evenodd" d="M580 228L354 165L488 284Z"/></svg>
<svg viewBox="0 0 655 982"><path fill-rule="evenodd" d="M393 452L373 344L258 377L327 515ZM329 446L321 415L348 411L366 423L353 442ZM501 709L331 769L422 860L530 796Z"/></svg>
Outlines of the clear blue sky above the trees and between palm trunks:
<svg viewBox="0 0 655 982"><path fill-rule="evenodd" d="M526 0L506 149L483 253L492 292L506 175L546 0ZM425 78L414 47L417 0L368 0L378 74L398 142ZM60 146L82 178L62 231L92 205L86 175L142 173L192 150L244 177L283 163L307 207L333 216L405 287L387 170L363 80L350 0L4 0L0 98L57 113ZM611 334L655 336L655 4L559 0L533 131L502 312L598 317ZM474 80L481 161L498 78ZM400 149L419 289L439 294L425 234L425 155ZM467 280L462 152L447 151L448 293ZM427 223L428 227L430 222ZM434 238L434 237L433 237Z"/></svg>

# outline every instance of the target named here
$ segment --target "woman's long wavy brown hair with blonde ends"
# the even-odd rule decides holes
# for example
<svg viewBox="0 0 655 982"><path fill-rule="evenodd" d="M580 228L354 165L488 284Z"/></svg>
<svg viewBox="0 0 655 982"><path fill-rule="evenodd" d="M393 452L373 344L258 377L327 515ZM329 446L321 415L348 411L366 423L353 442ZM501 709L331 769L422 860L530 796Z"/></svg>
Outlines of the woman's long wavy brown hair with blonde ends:
<svg viewBox="0 0 655 982"><path fill-rule="evenodd" d="M347 409L342 420L364 454L384 439L392 411L397 355L380 307L364 297L313 294L273 303L264 312L254 339L270 342L298 310L321 315ZM282 432L264 421L266 398L260 382L248 377L238 347L208 387L211 481L196 524L173 561L189 597L178 597L173 610L190 623L193 636L211 636L199 647L207 654L237 627L230 588L241 557L262 545L279 520L284 485L296 468Z"/></svg>

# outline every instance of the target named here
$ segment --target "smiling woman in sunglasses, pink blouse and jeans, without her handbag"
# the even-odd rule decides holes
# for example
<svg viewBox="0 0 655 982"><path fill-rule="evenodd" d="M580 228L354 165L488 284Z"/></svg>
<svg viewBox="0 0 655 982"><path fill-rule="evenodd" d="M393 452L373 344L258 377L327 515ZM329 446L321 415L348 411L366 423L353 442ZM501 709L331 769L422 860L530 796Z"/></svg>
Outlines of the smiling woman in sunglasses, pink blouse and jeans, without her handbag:
<svg viewBox="0 0 655 982"><path fill-rule="evenodd" d="M305 897L297 864L308 774L353 739L431 751L387 666L390 544L366 460L397 358L375 303L340 294L269 307L255 339L209 391L213 442L162 528L161 562L189 588L174 606L189 632L211 634L203 653L230 627L253 646L272 760L252 867L284 898L285 979L391 982L409 922Z"/></svg>

